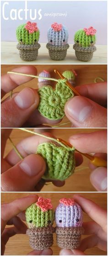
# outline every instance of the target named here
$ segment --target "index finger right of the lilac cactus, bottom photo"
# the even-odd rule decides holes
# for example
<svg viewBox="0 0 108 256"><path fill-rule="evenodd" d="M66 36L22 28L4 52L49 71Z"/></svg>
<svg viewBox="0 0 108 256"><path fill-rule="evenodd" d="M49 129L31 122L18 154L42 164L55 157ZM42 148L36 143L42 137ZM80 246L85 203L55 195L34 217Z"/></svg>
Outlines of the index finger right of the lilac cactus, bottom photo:
<svg viewBox="0 0 108 256"><path fill-rule="evenodd" d="M107 228L107 211L98 206L92 200L88 200L81 195L74 195L73 198L81 206L82 210L92 218L92 220L99 224L99 226L104 230Z"/></svg>

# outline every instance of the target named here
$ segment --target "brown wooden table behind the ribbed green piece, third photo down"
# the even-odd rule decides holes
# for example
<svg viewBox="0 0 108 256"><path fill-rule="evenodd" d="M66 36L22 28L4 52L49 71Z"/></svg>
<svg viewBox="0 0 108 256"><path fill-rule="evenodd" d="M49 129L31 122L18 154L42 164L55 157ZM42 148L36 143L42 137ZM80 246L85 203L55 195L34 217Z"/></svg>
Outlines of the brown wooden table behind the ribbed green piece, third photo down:
<svg viewBox="0 0 108 256"><path fill-rule="evenodd" d="M32 129L31 129L32 130ZM89 133L93 131L98 131L99 129L78 129L78 128L53 128L49 129L50 132L57 138L62 138L66 141L68 141L68 138L73 134L78 133ZM38 129L37 132L41 132L41 130ZM16 145L19 141L21 141L24 138L27 138L29 136L32 136L32 134L29 134L25 131L22 131L20 129L13 129L11 133L11 139ZM7 140L6 147L5 147L5 155L12 149L12 145L9 140ZM52 183L49 183L47 185L43 186L42 191L96 191L92 184L90 183L90 174L91 169L89 168L89 160L86 157L83 157L83 163L81 166L76 167L75 173L71 175L66 181L65 185L63 187L55 187Z"/></svg>

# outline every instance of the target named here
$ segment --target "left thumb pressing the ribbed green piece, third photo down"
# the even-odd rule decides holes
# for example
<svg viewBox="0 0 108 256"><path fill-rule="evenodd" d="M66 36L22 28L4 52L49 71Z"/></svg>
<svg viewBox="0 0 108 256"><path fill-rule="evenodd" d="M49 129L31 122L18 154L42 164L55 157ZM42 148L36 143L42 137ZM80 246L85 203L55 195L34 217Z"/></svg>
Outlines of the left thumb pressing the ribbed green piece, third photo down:
<svg viewBox="0 0 108 256"><path fill-rule="evenodd" d="M1 174L3 191L34 191L46 169L43 158L31 154Z"/></svg>

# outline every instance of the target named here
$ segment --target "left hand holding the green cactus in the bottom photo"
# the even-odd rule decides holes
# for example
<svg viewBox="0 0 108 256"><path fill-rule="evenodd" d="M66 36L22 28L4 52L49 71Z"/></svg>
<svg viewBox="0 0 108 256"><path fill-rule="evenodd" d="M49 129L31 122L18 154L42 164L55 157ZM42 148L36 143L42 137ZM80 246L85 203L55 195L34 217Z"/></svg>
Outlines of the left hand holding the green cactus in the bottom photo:
<svg viewBox="0 0 108 256"><path fill-rule="evenodd" d="M24 211L38 200L38 195L29 195L1 205L1 255L4 255L5 246L10 237L16 234L26 234L27 226ZM18 216L19 215L19 216ZM13 225L5 228L6 225ZM17 252L16 252L17 254ZM27 255L52 255L52 250L32 250Z"/></svg>

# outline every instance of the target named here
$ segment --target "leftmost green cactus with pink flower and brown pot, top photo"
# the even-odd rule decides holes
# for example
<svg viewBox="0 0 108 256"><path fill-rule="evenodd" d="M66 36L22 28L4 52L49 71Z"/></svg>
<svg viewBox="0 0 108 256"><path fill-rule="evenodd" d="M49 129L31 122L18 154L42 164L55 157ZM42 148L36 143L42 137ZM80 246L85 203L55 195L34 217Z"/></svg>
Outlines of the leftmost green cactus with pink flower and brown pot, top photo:
<svg viewBox="0 0 108 256"><path fill-rule="evenodd" d="M39 35L40 32L35 22L27 22L16 29L18 40L16 48L20 51L20 57L23 61L36 60L40 48Z"/></svg>

